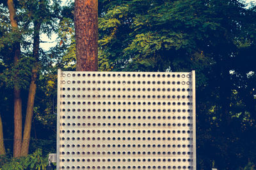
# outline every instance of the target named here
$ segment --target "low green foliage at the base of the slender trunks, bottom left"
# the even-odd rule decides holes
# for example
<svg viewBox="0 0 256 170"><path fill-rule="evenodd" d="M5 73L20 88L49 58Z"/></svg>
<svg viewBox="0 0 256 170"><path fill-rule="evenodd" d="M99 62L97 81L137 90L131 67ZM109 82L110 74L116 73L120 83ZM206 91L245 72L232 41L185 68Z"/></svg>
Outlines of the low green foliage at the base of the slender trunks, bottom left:
<svg viewBox="0 0 256 170"><path fill-rule="evenodd" d="M26 157L19 157L17 159L4 159L4 164L0 167L1 170L8 169L37 169L44 170L48 164L47 157L42 157L42 150L38 149L34 153Z"/></svg>

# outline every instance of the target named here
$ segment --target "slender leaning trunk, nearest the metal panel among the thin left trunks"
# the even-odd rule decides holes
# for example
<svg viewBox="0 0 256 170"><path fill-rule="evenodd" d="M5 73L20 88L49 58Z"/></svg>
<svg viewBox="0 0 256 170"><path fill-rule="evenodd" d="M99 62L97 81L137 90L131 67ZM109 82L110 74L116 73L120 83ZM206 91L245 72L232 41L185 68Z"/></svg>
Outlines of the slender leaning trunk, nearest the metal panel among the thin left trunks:
<svg viewBox="0 0 256 170"><path fill-rule="evenodd" d="M36 61L39 58L40 27L41 27L41 22L34 22L33 57L34 59L36 59ZM21 147L21 156L28 155L31 124L32 124L32 118L33 118L33 109L34 109L35 94L36 94L37 71L38 71L38 64L37 62L35 62L32 69L32 77L31 77L31 82L29 86L26 120L24 124L23 140L22 140L22 147Z"/></svg>

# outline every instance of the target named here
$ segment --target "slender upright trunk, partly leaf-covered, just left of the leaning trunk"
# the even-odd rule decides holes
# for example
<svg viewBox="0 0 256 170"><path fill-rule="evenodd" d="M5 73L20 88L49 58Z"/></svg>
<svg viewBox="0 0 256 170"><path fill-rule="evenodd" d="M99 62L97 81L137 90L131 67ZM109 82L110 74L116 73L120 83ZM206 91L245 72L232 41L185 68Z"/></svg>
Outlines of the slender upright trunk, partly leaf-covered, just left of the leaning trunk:
<svg viewBox="0 0 256 170"><path fill-rule="evenodd" d="M10 22L12 25L12 31L19 34L19 28L17 23L16 11L14 8L13 0L8 0L8 9L10 14ZM15 42L13 45L14 54L14 64L19 62L20 57L20 43ZM13 89L13 102L14 102L14 141L13 141L13 157L20 157L20 148L22 140L22 108L21 108L21 98L20 89L15 83Z"/></svg>

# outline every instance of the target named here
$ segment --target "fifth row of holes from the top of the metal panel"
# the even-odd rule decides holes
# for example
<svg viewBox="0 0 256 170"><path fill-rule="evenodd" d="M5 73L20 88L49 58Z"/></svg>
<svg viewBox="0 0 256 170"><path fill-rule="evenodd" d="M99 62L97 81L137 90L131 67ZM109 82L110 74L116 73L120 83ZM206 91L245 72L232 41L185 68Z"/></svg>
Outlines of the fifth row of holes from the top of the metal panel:
<svg viewBox="0 0 256 170"><path fill-rule="evenodd" d="M63 101L61 104L65 105L66 102ZM68 101L67 104L71 104L71 102ZM126 105L126 104L127 105L131 105L131 104L132 105L151 105L152 104L152 105L158 105L158 106L160 106L160 105L163 105L163 106L165 106L165 105L168 105L168 106L173 105L173 106L175 106L176 104L179 105L179 106L180 105L185 106L186 104L191 105L191 103L189 103L189 102L186 103L186 102L150 102L150 101L149 102L140 102L140 101L139 102L135 102L135 101L134 102L125 102L125 101L124 102L115 102L115 101L113 101L113 102L110 102L110 101L108 101L108 102L105 102L105 101L104 102L100 102L100 101L99 102L95 102L95 101L90 102L90 101L88 101L87 103L85 101L83 101L83 102L73 101L72 104L73 105L75 105L75 104L78 104L78 105L80 105L80 104L83 104L83 105L85 105L85 104L87 104L87 105L91 105L91 104L92 105L100 105L100 104L103 104L103 105L106 105L106 104L108 104L108 105L111 105L111 104L112 105L116 105L116 104L117 105L121 105L121 104L122 105Z"/></svg>

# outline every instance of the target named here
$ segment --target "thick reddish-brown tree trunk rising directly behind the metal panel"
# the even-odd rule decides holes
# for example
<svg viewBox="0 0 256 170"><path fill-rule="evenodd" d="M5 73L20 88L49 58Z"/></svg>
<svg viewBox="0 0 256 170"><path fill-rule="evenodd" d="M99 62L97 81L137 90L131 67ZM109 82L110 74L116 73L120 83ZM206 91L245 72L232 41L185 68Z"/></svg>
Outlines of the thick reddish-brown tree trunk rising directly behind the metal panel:
<svg viewBox="0 0 256 170"><path fill-rule="evenodd" d="M98 1L75 1L77 71L98 69Z"/></svg>

